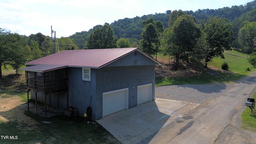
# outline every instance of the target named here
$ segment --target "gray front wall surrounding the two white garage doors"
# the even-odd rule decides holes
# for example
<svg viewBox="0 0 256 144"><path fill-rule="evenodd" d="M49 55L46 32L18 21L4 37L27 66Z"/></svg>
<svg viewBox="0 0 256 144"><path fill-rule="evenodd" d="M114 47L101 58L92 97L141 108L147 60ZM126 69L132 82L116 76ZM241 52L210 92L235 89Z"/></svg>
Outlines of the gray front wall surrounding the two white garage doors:
<svg viewBox="0 0 256 144"><path fill-rule="evenodd" d="M155 66L133 66L123 68L96 69L96 115L102 118L102 93L128 88L129 108L137 106L137 86L152 83L152 100L154 100ZM134 88L133 88L134 87ZM93 110L92 110L93 111Z"/></svg>

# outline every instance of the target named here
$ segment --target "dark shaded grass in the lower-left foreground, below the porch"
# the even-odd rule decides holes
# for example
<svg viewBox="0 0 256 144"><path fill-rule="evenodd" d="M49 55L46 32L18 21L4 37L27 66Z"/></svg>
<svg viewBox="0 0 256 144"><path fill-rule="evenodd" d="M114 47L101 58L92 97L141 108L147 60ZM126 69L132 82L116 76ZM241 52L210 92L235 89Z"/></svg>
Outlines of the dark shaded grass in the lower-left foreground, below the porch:
<svg viewBox="0 0 256 144"><path fill-rule="evenodd" d="M53 116L42 118L34 113L25 112L28 118L38 122L36 125L18 122L18 120L0 123L0 132L4 136L18 136L17 140L0 140L1 144L116 144L115 138L97 123L85 123L84 118ZM49 124L42 121L51 122ZM112 140L110 141L109 140Z"/></svg>

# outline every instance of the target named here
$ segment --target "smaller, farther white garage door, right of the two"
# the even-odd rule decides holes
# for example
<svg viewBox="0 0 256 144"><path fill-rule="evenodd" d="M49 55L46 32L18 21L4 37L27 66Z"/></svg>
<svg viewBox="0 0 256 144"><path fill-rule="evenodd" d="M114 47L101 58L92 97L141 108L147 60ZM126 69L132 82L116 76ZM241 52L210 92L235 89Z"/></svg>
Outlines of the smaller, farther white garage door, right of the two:
<svg viewBox="0 0 256 144"><path fill-rule="evenodd" d="M152 84L138 86L137 105L152 101Z"/></svg>

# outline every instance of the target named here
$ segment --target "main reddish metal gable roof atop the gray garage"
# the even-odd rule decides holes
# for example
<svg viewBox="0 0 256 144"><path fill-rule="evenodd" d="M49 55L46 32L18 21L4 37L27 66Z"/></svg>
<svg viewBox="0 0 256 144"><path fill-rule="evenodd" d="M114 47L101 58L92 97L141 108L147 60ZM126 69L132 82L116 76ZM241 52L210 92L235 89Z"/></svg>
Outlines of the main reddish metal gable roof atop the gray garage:
<svg viewBox="0 0 256 144"><path fill-rule="evenodd" d="M133 51L139 51L151 60L160 64L150 56L138 48L108 48L108 49L92 49L92 50L64 50L31 62L27 65L61 65L69 67L88 67L88 68L101 68ZM161 65L161 64L160 64Z"/></svg>

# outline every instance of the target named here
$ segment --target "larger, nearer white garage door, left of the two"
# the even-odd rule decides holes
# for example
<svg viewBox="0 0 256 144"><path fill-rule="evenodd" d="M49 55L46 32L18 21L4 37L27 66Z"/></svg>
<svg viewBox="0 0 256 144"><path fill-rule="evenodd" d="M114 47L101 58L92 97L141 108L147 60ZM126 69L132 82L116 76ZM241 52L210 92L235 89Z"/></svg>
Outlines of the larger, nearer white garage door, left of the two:
<svg viewBox="0 0 256 144"><path fill-rule="evenodd" d="M128 109L128 88L103 93L103 116L124 109Z"/></svg>

